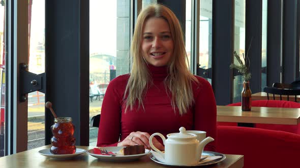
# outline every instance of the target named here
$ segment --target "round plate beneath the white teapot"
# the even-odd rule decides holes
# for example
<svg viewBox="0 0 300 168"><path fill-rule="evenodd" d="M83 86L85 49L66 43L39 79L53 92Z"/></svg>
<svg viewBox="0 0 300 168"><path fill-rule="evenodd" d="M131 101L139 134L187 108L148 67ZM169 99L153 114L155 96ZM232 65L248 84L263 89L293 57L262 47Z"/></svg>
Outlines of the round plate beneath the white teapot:
<svg viewBox="0 0 300 168"><path fill-rule="evenodd" d="M211 152L211 151L203 151L202 156L203 155L207 155L207 156L220 156L220 158L215 159L215 160L211 160L211 161L205 161L203 160L203 162L199 162L198 164L194 164L194 165L174 165L174 164L168 164L162 161L162 159L157 159L154 155L157 155L155 151L151 151L152 154L149 156L151 158L151 160L159 163L159 164L163 164L163 165L168 165L168 166L202 166L202 165L210 165L210 164L216 164L220 161L223 161L226 156L222 153L218 153L218 152ZM160 156L159 154L157 155L158 157ZM160 156L161 157L161 156Z"/></svg>

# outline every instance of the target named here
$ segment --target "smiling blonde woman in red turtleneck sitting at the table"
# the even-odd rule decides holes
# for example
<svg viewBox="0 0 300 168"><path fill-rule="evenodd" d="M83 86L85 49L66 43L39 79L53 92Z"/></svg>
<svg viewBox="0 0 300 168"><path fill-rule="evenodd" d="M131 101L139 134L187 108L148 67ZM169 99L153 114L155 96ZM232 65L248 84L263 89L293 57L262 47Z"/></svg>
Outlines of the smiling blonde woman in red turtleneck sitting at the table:
<svg viewBox="0 0 300 168"><path fill-rule="evenodd" d="M152 5L141 11L131 44L132 71L107 87L97 146L144 145L159 132L180 127L216 138L216 102L211 85L190 73L182 28L171 10ZM161 139L154 145L164 150ZM205 146L215 151L215 142Z"/></svg>

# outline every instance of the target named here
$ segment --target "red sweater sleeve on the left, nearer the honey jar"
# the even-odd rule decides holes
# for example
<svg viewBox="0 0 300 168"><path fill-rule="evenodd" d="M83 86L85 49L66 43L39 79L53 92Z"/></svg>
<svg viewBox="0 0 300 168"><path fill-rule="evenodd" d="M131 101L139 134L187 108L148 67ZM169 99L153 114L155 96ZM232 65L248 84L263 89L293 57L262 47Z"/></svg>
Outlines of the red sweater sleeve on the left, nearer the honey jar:
<svg viewBox="0 0 300 168"><path fill-rule="evenodd" d="M125 82L124 75L110 81L101 107L97 146L116 146L121 134L121 103Z"/></svg>

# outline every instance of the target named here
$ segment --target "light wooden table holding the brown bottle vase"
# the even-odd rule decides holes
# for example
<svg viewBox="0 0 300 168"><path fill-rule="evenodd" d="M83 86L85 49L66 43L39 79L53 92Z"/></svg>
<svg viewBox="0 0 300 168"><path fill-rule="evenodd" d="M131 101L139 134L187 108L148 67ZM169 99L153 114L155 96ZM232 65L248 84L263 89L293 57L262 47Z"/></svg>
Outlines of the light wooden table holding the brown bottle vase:
<svg viewBox="0 0 300 168"><path fill-rule="evenodd" d="M217 121L297 125L300 109L252 107L251 111L242 111L241 106L217 106Z"/></svg>

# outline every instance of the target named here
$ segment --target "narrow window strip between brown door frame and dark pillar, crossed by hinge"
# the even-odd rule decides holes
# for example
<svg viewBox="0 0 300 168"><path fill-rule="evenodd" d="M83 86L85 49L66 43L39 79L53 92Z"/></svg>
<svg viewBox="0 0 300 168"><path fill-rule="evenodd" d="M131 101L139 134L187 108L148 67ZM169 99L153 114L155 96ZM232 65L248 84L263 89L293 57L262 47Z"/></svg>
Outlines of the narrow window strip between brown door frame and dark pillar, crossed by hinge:
<svg viewBox="0 0 300 168"><path fill-rule="evenodd" d="M28 1L28 71L45 72L45 0ZM28 94L28 146L45 145L45 94Z"/></svg>

